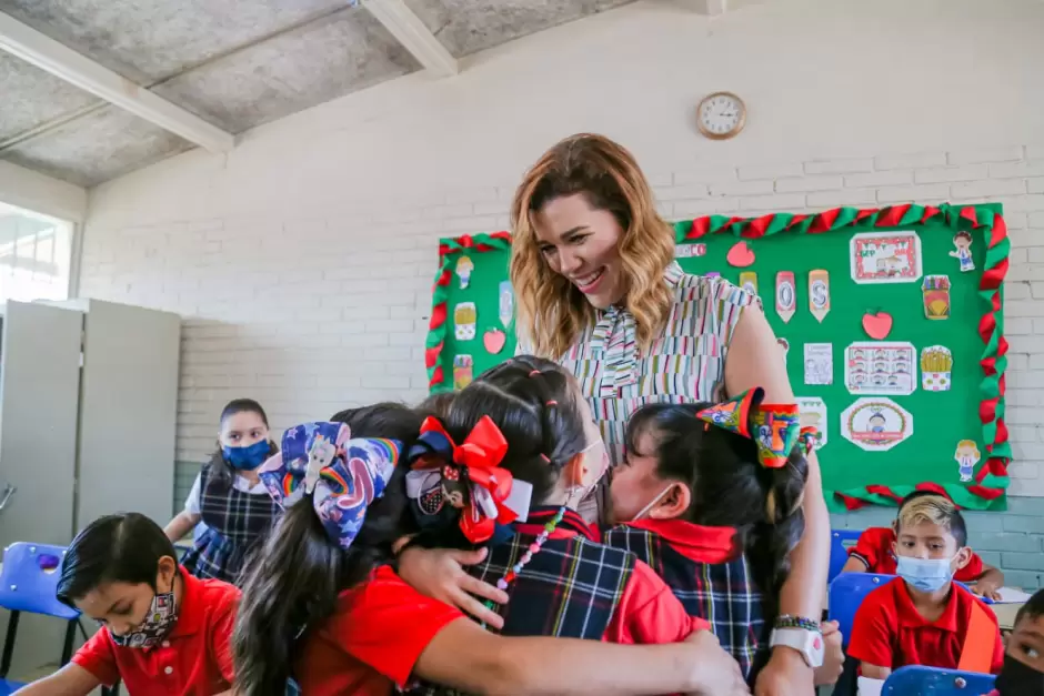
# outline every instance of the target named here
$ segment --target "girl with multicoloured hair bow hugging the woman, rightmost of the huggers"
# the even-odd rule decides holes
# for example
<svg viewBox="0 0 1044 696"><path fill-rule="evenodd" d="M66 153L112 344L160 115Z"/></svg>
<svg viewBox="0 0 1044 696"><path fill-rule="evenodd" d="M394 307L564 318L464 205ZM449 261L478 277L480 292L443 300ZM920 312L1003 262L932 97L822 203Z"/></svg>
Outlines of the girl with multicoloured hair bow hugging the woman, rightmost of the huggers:
<svg viewBox="0 0 1044 696"><path fill-rule="evenodd" d="M610 488L622 524L605 534L610 546L650 563L690 614L711 622L751 684L769 660L773 627L785 628L777 597L804 532L813 445L795 404L763 397L753 389L721 404L639 408ZM836 678L832 668L820 680Z"/></svg>

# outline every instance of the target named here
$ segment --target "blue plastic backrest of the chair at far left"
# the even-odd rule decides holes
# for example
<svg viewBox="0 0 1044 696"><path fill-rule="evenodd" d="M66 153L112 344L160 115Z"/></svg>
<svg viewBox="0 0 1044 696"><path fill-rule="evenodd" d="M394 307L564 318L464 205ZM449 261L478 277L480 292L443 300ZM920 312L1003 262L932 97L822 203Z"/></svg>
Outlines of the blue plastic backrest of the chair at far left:
<svg viewBox="0 0 1044 696"><path fill-rule="evenodd" d="M71 621L80 615L58 601L63 546L18 542L3 552L0 572L0 607Z"/></svg>

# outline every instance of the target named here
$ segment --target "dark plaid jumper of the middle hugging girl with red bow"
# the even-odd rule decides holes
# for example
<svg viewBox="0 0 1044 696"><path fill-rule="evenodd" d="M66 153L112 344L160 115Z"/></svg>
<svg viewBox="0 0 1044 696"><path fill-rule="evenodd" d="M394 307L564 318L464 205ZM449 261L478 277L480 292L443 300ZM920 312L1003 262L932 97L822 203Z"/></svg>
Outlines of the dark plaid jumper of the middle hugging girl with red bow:
<svg viewBox="0 0 1044 696"><path fill-rule="evenodd" d="M558 507L535 507L526 525L550 522L556 512ZM508 586L508 604L495 607L504 617L504 627L488 631L506 636L602 639L631 578L634 554L586 538L590 527L573 511L566 512L558 528L576 534L544 542ZM535 539L535 534L516 533L510 541L490 548L485 561L468 572L495 585ZM422 684L409 693L449 696L460 692Z"/></svg>

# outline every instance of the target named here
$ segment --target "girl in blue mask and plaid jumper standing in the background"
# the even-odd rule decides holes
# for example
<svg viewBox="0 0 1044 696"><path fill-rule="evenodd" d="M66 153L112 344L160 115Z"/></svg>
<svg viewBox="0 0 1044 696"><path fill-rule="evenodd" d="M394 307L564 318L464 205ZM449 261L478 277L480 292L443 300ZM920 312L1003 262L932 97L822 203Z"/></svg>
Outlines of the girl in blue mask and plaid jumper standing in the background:
<svg viewBox="0 0 1044 696"><path fill-rule="evenodd" d="M247 555L271 529L279 507L258 477L258 467L278 452L269 440L261 404L237 399L221 412L218 451L195 477L184 510L163 532L178 542L201 521L181 563L197 577L237 583Z"/></svg>

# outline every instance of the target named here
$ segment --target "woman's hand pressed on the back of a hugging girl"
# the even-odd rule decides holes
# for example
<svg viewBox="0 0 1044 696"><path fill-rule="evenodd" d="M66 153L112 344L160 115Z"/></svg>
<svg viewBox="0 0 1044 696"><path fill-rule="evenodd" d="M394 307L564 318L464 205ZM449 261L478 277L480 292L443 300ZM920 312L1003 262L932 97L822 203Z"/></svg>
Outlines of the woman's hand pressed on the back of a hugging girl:
<svg viewBox="0 0 1044 696"><path fill-rule="evenodd" d="M486 553L485 548L456 551L412 546L399 556L399 576L421 594L455 606L488 626L503 628L504 619L472 595L506 604L508 593L472 577L463 568L482 563Z"/></svg>

